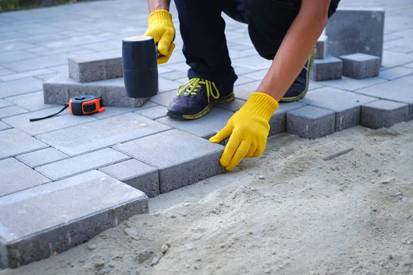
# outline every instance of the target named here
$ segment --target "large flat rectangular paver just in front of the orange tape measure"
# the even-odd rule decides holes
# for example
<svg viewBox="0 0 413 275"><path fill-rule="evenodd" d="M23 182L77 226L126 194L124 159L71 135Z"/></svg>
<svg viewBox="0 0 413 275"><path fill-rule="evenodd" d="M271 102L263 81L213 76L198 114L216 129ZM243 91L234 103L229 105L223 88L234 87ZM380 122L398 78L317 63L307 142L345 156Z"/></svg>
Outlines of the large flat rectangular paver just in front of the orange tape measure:
<svg viewBox="0 0 413 275"><path fill-rule="evenodd" d="M73 156L169 129L171 128L165 124L136 113L124 113L36 137Z"/></svg>

